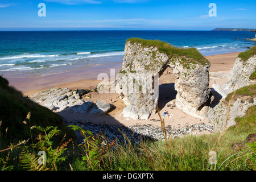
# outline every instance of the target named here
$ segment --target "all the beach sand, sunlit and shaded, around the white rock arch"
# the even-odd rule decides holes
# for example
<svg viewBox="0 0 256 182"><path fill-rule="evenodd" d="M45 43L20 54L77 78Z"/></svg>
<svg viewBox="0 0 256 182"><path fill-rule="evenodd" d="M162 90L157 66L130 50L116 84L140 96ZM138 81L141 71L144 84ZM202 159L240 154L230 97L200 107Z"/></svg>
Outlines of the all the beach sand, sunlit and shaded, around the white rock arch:
<svg viewBox="0 0 256 182"><path fill-rule="evenodd" d="M224 73L230 74L232 71L234 62L237 59L237 56L240 52L236 53L226 53L222 55L213 55L205 56L211 63L210 72L214 73ZM10 82L10 85L14 86L16 89L22 91L24 95L31 96L41 90L46 90L48 88L64 88L69 89L84 89L84 88L93 88L98 85L102 80L97 80L97 75L99 73L110 74L110 68L115 69L115 74L119 73L121 68L120 64L112 65L103 65L102 67L85 67L75 71L58 73L55 75L48 75L42 77L7 77ZM170 69L170 68L169 68ZM212 84L224 84L228 81L228 78L211 76L210 74L210 83L209 87L212 88ZM172 107L171 102L175 100L176 91L174 90L175 77L174 74L167 75L166 71L159 78L159 109L160 114L164 113L164 110L167 110L168 113L173 114L171 118L164 117L165 125L171 125L173 127L184 127L186 125L193 125L196 123L208 123L207 119L200 119L192 117L189 114L183 113L176 106ZM144 125L151 124L156 126L161 126L158 113L151 114L150 118L147 120L134 120L131 118L125 118L122 115L123 108L126 107L121 98L118 97L117 93L104 93L100 94L97 92L90 93L92 100L97 102L99 99L104 99L112 104L113 109L106 115L96 116L86 113L73 114L68 111L61 111L59 114L64 117L67 121L80 121L80 122L93 122L101 123L107 125L122 125L122 126L133 126L133 125ZM217 101L221 98L218 97L218 94L215 92ZM83 98L84 99L84 98ZM84 99L85 100L85 99ZM217 104L217 103L216 103ZM209 131L203 131L197 134L209 134Z"/></svg>

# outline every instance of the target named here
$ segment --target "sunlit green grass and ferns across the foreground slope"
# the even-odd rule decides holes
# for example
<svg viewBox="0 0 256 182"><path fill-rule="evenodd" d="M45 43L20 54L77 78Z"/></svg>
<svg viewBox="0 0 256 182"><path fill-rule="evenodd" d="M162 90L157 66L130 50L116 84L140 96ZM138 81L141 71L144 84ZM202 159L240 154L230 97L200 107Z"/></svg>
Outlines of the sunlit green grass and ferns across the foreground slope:
<svg viewBox="0 0 256 182"><path fill-rule="evenodd" d="M255 108L248 111L250 112L254 114L255 119ZM243 122L246 122L247 118L243 117ZM255 133L255 121L250 130L241 131L245 126L237 125L221 137L219 133L215 133L131 143L132 141L124 135L127 142L118 143L116 140L108 142L102 133L93 134L72 125L70 127L73 130L80 131L84 136L84 142L76 144L73 148L67 147L71 139L53 146L52 137L60 133L56 127L43 129L35 126L33 130L41 132L35 143L23 142L0 150L0 168L31 171L251 170L255 169L254 144L246 144L240 151L231 147L233 143L243 142L249 132ZM251 147L254 151L251 151ZM38 155L40 151L44 151L42 156ZM17 155L19 158L16 158ZM215 155L216 159L212 158L212 155ZM211 163L211 159L216 164ZM42 163L38 163L39 160Z"/></svg>

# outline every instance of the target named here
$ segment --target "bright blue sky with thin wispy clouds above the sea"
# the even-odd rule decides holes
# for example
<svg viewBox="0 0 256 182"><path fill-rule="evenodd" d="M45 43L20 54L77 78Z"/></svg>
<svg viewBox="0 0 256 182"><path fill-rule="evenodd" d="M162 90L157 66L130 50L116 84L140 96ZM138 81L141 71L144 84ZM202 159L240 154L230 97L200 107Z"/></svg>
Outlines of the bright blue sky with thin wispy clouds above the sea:
<svg viewBox="0 0 256 182"><path fill-rule="evenodd" d="M39 17L39 3L46 17ZM217 16L210 17L210 3ZM0 0L0 30L256 28L255 0Z"/></svg>

